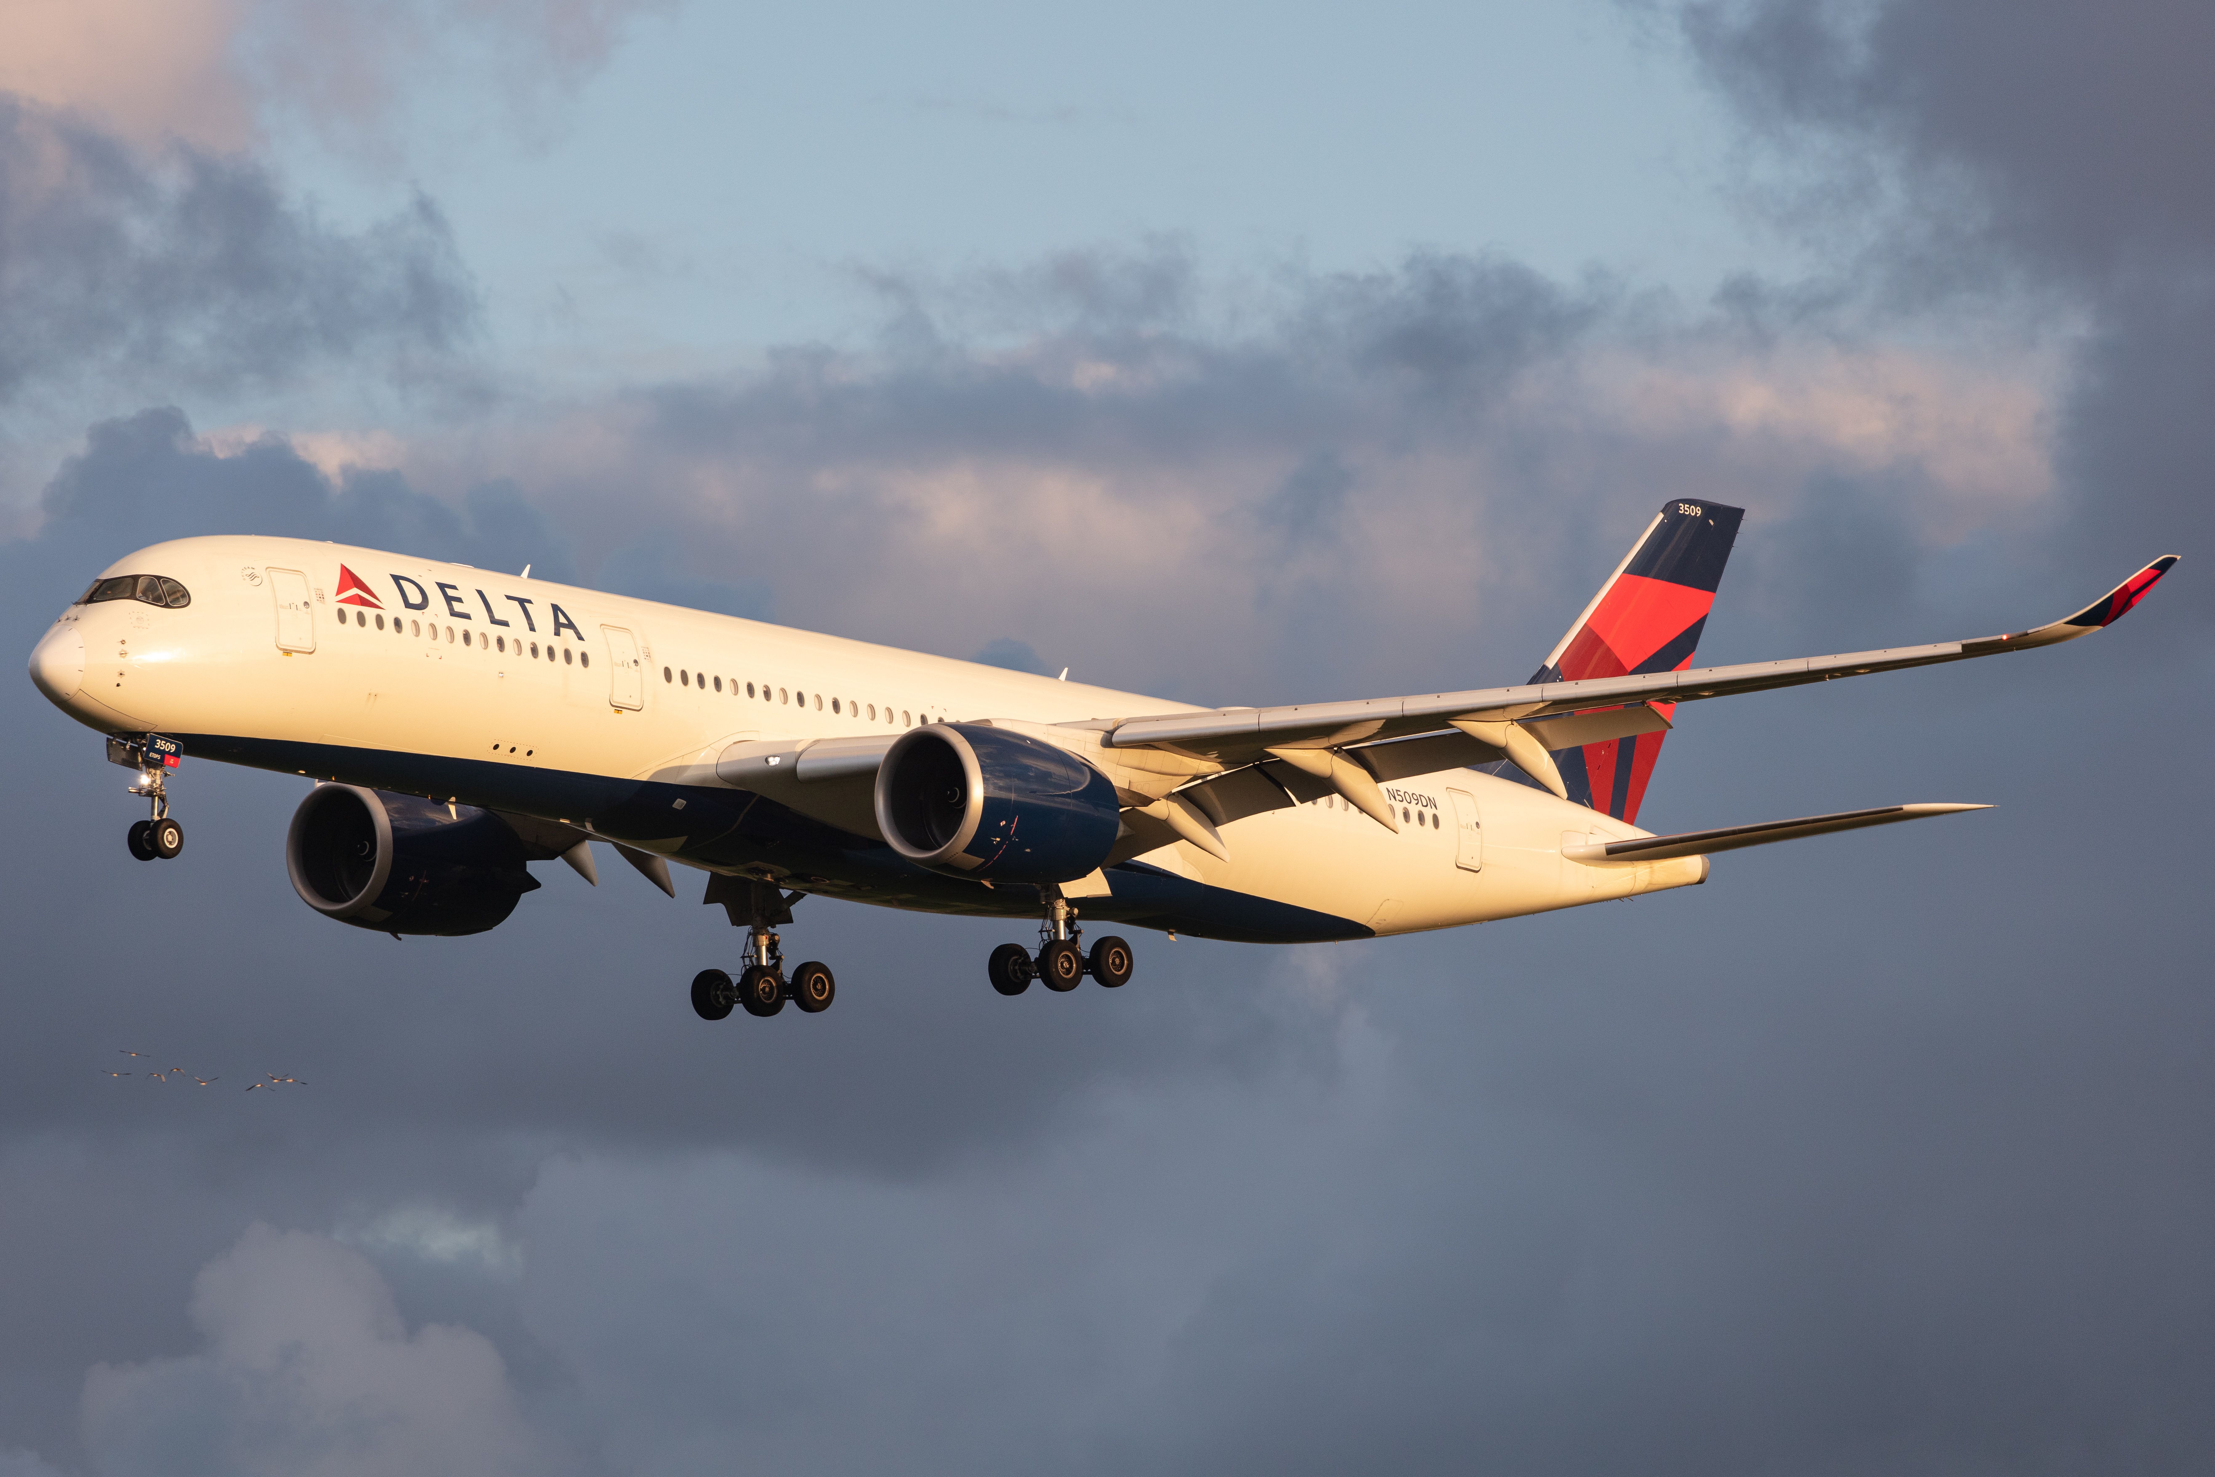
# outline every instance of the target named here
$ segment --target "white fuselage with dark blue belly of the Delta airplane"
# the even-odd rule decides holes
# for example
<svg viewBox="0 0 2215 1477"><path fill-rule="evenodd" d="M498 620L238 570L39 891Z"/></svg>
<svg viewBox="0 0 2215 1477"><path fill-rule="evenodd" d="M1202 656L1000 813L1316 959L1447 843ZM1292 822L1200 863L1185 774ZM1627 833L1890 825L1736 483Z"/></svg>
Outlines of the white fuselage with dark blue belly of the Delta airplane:
<svg viewBox="0 0 2215 1477"><path fill-rule="evenodd" d="M341 589L341 567L361 593ZM47 695L91 729L175 735L195 757L536 815L707 870L904 908L1030 915L1034 899L917 879L875 835L749 839L742 793L715 775L718 755L746 740L1183 709L328 543L186 538L140 549L109 574L166 576L190 605L106 600L62 613L31 667ZM1227 861L1187 841L1161 846L1136 857L1130 877L1110 868L1114 897L1088 899L1085 912L1243 939L1367 937L1628 897L1708 872L1701 857L1570 861L1564 841L1646 833L1469 768L1395 779L1384 793L1407 815L1398 835L1333 797L1263 810L1223 826ZM700 795L691 815L702 819L678 824L671 815L684 806L664 795ZM724 815L718 806L731 806L731 828L709 835L704 817ZM1125 906L1130 879L1145 881L1143 906ZM1238 921L1218 928L1216 915ZM1276 917L1289 921L1278 928Z"/></svg>

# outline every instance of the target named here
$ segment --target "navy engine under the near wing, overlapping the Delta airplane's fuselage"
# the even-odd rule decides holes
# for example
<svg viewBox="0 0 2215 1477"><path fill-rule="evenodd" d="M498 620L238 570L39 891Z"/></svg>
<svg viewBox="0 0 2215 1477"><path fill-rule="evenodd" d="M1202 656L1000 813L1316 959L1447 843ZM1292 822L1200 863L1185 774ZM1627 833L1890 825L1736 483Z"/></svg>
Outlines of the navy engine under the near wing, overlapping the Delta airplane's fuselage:
<svg viewBox="0 0 2215 1477"><path fill-rule="evenodd" d="M902 733L877 766L877 830L908 861L979 881L1074 881L1123 828L1114 782L986 724Z"/></svg>

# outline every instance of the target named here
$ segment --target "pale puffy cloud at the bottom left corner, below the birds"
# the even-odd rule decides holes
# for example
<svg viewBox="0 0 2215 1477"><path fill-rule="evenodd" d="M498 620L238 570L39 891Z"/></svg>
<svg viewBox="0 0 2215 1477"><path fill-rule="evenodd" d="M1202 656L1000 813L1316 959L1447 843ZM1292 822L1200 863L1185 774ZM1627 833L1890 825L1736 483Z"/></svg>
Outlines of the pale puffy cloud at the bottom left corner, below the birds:
<svg viewBox="0 0 2215 1477"><path fill-rule="evenodd" d="M193 1280L193 1326L199 1353L86 1375L100 1473L571 1468L527 1424L483 1335L410 1331L377 1269L337 1242L250 1227Z"/></svg>

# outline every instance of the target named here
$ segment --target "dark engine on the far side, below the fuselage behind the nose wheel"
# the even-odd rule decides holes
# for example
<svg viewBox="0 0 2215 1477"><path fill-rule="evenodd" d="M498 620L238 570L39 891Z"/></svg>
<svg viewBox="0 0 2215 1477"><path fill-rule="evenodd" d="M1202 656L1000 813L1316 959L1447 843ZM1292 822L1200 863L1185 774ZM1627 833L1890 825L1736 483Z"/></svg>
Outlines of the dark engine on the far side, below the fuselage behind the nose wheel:
<svg viewBox="0 0 2215 1477"><path fill-rule="evenodd" d="M492 810L319 784L292 813L284 864L323 917L394 934L476 934L538 886Z"/></svg>

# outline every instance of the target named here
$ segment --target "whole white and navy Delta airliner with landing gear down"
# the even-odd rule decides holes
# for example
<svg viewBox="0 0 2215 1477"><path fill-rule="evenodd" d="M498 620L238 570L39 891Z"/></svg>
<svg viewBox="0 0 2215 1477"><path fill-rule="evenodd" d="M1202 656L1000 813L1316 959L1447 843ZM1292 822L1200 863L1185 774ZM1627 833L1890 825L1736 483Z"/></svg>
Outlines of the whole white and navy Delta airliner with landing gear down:
<svg viewBox="0 0 2215 1477"><path fill-rule="evenodd" d="M1668 503L1522 686L1192 709L729 616L295 538L184 538L109 567L31 653L135 766L140 859L175 857L184 755L319 784L286 866L317 912L483 932L591 839L746 930L707 1019L824 1010L777 926L804 895L1037 917L990 979L1121 985L1079 917L1256 943L1453 928L1708 879L1741 846L1974 810L1909 804L1650 835L1677 704L2047 647L2118 620L2160 558L2067 620L1985 640L1692 667L1741 509Z"/></svg>

